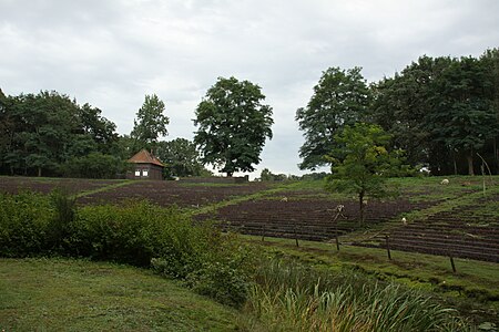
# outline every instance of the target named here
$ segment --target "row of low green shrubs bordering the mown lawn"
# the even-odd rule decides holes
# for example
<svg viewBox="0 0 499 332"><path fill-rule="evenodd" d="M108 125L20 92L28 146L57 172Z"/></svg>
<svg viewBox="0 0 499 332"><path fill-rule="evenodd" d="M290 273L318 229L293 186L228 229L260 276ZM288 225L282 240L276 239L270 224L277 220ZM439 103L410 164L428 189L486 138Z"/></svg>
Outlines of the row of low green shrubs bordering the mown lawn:
<svg viewBox="0 0 499 332"><path fill-rule="evenodd" d="M176 207L129 201L75 209L60 191L0 194L0 256L67 256L152 267L202 294L241 305L252 255L214 225L196 224Z"/></svg>

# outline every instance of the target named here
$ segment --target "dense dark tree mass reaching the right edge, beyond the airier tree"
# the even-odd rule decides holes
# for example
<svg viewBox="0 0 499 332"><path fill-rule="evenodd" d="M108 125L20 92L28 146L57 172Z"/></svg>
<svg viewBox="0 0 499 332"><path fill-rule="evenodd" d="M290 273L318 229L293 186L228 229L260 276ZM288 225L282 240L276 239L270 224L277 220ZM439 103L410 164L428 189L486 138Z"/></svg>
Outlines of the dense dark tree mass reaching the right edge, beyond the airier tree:
<svg viewBox="0 0 499 332"><path fill-rule="evenodd" d="M393 135L411 165L473 174L479 152L499 172L499 56L420 56L373 86L371 121Z"/></svg>

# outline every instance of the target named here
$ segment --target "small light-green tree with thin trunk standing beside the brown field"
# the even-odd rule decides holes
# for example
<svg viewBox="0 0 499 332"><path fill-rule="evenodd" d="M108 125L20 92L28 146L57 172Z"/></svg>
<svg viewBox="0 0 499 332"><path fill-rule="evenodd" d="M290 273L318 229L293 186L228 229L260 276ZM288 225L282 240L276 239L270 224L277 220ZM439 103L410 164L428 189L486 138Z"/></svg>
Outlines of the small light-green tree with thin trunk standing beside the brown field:
<svg viewBox="0 0 499 332"><path fill-rule="evenodd" d="M332 175L326 179L326 188L357 195L359 224L365 221L366 196L393 194L386 179L403 168L401 151L388 152L386 148L390 138L380 126L366 123L346 126L334 137L338 147L327 156Z"/></svg>

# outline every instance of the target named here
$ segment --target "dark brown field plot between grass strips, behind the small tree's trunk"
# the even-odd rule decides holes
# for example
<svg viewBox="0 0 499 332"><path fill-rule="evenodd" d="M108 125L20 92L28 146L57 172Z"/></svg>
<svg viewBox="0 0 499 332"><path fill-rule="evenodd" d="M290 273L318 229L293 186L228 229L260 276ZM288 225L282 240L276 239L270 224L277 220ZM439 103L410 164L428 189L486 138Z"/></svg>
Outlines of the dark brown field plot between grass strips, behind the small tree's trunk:
<svg viewBox="0 0 499 332"><path fill-rule="evenodd" d="M344 211L336 219L335 208L338 205L344 205ZM408 200L373 201L367 208L366 225L374 226L401 212L429 205ZM358 205L355 201L325 198L246 200L222 207L215 214L198 218L222 220L221 225L224 228L242 234L314 241L327 241L334 239L336 235L344 236L359 229Z"/></svg>

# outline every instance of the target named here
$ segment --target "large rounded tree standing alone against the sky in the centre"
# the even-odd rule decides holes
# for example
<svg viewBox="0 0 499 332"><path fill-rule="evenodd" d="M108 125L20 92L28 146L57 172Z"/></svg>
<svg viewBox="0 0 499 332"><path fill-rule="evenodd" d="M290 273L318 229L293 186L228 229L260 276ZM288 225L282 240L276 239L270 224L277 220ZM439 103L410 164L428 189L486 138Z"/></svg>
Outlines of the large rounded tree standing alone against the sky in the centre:
<svg viewBox="0 0 499 332"><path fill-rule="evenodd" d="M274 123L264 100L261 87L252 82L218 77L195 112L194 143L204 164L215 165L227 176L255 169Z"/></svg>

